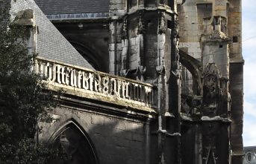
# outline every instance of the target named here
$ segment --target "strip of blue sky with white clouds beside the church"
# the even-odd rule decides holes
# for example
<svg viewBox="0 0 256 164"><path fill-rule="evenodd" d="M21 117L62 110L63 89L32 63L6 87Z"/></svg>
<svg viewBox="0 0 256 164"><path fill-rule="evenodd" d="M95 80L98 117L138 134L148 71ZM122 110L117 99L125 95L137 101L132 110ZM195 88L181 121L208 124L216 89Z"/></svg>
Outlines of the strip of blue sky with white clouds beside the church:
<svg viewBox="0 0 256 164"><path fill-rule="evenodd" d="M244 117L243 145L256 145L256 1L242 0Z"/></svg>

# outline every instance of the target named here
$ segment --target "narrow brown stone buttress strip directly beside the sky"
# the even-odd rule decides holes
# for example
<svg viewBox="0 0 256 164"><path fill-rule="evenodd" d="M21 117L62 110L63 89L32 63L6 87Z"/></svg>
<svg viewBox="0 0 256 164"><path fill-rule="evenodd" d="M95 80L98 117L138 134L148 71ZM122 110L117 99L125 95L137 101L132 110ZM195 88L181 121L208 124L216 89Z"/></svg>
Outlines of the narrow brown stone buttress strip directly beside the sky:
<svg viewBox="0 0 256 164"><path fill-rule="evenodd" d="M228 0L228 36L230 47L231 149L232 163L243 163L243 56L241 0Z"/></svg>

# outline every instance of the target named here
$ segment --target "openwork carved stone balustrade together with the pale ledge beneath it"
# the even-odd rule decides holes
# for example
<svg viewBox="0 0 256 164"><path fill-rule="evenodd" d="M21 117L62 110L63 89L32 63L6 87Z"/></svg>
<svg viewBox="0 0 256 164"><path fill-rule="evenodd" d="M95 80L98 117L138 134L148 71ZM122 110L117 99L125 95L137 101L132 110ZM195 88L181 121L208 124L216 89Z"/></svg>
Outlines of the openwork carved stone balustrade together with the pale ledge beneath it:
<svg viewBox="0 0 256 164"><path fill-rule="evenodd" d="M142 111L157 108L157 88L147 83L43 58L35 60L33 70L48 78L51 90Z"/></svg>

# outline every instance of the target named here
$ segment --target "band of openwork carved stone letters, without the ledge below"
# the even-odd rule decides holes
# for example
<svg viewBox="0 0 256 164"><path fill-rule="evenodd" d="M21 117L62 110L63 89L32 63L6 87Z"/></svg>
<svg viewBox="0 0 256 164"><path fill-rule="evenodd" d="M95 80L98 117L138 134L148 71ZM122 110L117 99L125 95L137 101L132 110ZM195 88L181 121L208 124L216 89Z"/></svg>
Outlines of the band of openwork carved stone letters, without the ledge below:
<svg viewBox="0 0 256 164"><path fill-rule="evenodd" d="M126 99L143 102L144 105L154 107L156 105L157 91L152 85L135 82L107 73L72 68L54 62L37 59L34 70L48 77L49 82L57 82L63 86L81 88L84 91L96 92L105 96L113 96L115 99Z"/></svg>

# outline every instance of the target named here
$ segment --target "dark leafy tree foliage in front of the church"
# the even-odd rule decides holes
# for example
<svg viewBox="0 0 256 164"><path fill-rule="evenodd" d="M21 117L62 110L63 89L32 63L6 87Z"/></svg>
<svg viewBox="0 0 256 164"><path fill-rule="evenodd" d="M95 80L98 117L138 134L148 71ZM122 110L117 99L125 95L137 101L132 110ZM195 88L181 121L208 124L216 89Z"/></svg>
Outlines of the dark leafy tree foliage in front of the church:
<svg viewBox="0 0 256 164"><path fill-rule="evenodd" d="M49 163L63 154L34 139L37 123L52 121L57 94L31 70L37 56L26 47L31 27L9 18L8 7L0 7L0 163Z"/></svg>

